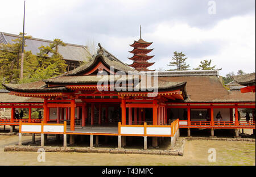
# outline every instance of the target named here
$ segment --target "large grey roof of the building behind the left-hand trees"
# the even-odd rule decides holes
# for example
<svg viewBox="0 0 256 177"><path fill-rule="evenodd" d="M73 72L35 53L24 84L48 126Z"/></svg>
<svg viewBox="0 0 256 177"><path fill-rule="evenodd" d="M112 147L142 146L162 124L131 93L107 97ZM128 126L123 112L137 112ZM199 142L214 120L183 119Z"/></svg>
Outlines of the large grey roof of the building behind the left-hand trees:
<svg viewBox="0 0 256 177"><path fill-rule="evenodd" d="M11 33L5 33L0 32L0 44L13 44L14 39L18 39L19 35L14 35ZM31 37L31 39L27 39L25 41L26 47L25 50L29 51L31 50L32 54L39 53L39 47L42 45L46 46L52 43L51 40L44 40L44 39L38 39ZM89 50L84 45L77 45L77 44L69 44L65 43L66 46L60 46L59 47L59 53L63 56L64 60L70 60L70 61L88 61L92 55L90 54Z"/></svg>

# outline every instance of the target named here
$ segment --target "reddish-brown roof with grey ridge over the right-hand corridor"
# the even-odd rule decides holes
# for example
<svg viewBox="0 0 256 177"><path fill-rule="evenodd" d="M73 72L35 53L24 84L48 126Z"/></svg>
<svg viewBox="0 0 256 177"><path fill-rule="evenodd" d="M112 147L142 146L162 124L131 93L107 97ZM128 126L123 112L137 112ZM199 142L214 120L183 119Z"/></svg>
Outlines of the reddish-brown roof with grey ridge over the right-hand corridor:
<svg viewBox="0 0 256 177"><path fill-rule="evenodd" d="M185 102L255 102L255 93L228 91L214 73L217 70L165 71L159 72L159 77L167 82L187 82Z"/></svg>

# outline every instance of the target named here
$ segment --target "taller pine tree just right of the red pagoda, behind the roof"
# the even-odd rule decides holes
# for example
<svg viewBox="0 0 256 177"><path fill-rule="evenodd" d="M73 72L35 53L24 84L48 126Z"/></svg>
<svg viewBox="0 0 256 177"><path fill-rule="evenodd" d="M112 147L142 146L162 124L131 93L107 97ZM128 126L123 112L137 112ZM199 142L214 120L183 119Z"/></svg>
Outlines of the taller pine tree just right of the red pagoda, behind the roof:
<svg viewBox="0 0 256 177"><path fill-rule="evenodd" d="M174 57L172 57L172 62L168 64L167 66L175 66L175 69L169 69L168 71L174 71L174 70L188 70L190 67L188 64L185 63L185 60L187 60L187 57L185 57L185 54L182 52L174 52Z"/></svg>

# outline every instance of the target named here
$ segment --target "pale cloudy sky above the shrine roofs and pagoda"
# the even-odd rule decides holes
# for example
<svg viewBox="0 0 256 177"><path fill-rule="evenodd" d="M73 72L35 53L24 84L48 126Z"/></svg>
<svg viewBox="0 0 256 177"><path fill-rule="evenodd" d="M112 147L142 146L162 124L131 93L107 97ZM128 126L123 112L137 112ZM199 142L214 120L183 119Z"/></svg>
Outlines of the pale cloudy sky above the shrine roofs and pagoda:
<svg viewBox="0 0 256 177"><path fill-rule="evenodd" d="M2 0L0 31L23 28L23 0ZM189 69L212 60L225 76L242 69L255 72L255 0L26 0L25 33L65 43L101 44L119 60L132 64L134 40L153 42L155 62L167 66L174 52L183 52Z"/></svg>

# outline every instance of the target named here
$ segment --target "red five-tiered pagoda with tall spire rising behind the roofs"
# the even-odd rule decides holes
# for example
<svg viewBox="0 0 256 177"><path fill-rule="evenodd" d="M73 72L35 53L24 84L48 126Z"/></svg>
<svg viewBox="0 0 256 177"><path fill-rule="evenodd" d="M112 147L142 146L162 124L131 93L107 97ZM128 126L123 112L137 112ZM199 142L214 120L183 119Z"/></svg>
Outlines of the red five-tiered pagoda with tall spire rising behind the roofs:
<svg viewBox="0 0 256 177"><path fill-rule="evenodd" d="M149 66L152 66L155 62L148 62L154 56L148 56L147 53L151 52L153 49L147 49L152 43L148 43L141 38L141 26L139 30L139 40L134 41L130 46L134 49L129 51L133 53L133 57L130 57L130 60L133 60L133 64L129 65L138 71L155 71L147 69Z"/></svg>

